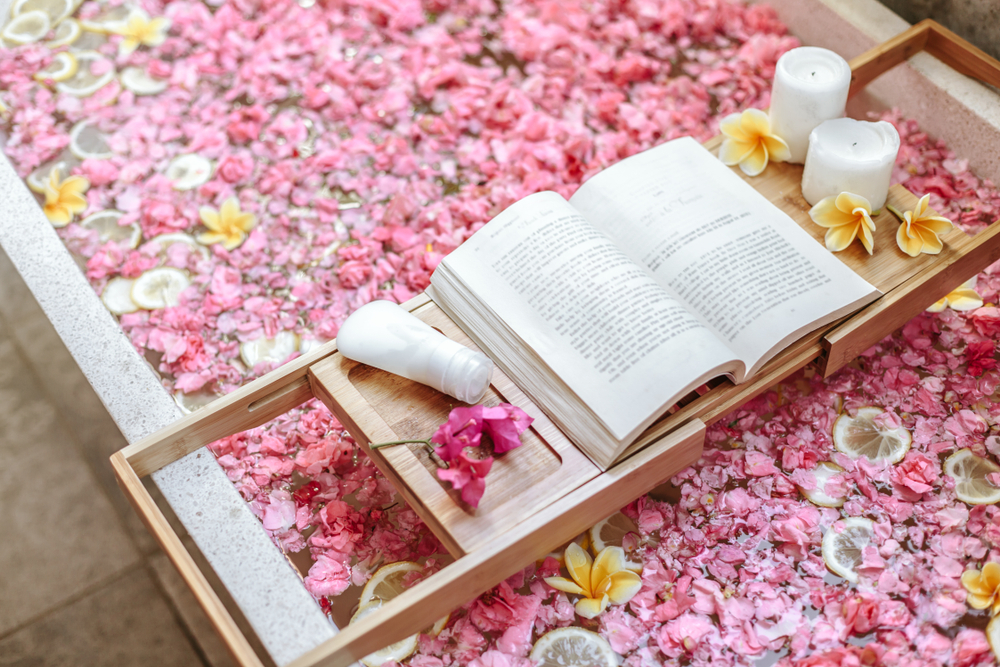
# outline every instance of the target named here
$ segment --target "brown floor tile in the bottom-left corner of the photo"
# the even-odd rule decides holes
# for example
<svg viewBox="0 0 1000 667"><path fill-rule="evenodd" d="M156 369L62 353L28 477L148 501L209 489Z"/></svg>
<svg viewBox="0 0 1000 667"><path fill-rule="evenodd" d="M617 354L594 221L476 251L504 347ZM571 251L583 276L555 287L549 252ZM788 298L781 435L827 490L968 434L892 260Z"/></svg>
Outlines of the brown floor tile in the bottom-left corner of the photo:
<svg viewBox="0 0 1000 667"><path fill-rule="evenodd" d="M204 664L143 567L0 639L2 667Z"/></svg>

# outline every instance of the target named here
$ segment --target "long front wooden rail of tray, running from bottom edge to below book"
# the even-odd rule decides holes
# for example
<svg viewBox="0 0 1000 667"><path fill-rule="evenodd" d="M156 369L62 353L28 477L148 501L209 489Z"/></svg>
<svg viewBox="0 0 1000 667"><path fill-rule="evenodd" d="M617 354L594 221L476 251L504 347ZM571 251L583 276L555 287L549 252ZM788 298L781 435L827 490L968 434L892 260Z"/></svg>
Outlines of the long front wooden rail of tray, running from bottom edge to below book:
<svg viewBox="0 0 1000 667"><path fill-rule="evenodd" d="M695 420L498 535L475 552L385 603L288 667L343 667L425 628L488 591L525 563L573 539L701 456L705 426Z"/></svg>

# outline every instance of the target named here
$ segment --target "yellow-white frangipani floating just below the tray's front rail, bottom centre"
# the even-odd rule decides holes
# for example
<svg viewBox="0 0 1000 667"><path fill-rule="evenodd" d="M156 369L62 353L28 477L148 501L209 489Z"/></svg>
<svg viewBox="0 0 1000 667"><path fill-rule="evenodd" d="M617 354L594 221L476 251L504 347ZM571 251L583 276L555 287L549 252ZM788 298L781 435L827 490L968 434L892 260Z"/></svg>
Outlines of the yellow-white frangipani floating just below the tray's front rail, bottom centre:
<svg viewBox="0 0 1000 667"><path fill-rule="evenodd" d="M576 603L576 613L584 618L594 618L607 609L608 604L625 604L639 592L642 579L628 569L625 551L621 547L605 547L597 558L591 560L579 544L566 547L566 569L573 581L565 577L546 577L552 588L582 595Z"/></svg>

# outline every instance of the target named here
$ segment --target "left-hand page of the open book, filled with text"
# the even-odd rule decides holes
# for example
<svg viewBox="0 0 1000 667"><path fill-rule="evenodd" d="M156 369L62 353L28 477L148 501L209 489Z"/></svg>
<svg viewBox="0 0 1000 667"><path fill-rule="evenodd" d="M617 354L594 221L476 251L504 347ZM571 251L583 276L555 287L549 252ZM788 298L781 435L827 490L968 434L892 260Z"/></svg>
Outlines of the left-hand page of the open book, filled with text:
<svg viewBox="0 0 1000 667"><path fill-rule="evenodd" d="M555 193L512 205L443 260L619 440L733 354ZM432 282L439 286L438 273Z"/></svg>

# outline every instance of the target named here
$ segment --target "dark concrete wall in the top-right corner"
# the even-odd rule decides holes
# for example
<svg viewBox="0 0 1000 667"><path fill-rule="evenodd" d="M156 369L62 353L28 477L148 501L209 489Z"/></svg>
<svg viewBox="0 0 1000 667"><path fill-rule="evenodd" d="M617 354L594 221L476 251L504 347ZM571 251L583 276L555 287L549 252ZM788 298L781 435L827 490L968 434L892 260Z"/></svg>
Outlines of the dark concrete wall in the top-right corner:
<svg viewBox="0 0 1000 667"><path fill-rule="evenodd" d="M910 23L934 19L1000 60L997 0L879 0Z"/></svg>

